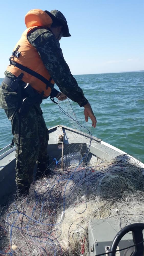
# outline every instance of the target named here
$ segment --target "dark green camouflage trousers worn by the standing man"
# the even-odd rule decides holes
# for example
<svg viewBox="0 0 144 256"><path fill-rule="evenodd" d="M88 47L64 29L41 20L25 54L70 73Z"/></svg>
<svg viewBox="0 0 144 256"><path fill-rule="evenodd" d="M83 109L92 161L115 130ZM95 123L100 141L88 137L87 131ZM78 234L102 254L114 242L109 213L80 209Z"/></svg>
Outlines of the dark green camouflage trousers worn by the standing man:
<svg viewBox="0 0 144 256"><path fill-rule="evenodd" d="M33 180L34 166L47 165L48 129L42 116L40 105L33 105L21 115L20 147L18 95L4 82L0 87L0 106L4 109L12 124L12 134L16 144L16 184L20 189L29 189Z"/></svg>

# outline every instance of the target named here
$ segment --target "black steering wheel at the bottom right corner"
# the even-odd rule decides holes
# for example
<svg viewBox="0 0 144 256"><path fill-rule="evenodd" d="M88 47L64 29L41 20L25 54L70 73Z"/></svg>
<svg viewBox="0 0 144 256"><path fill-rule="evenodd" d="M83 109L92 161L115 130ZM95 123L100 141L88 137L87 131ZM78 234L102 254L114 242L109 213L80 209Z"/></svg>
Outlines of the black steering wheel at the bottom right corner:
<svg viewBox="0 0 144 256"><path fill-rule="evenodd" d="M125 228L121 229L117 235L115 236L112 245L110 247L110 251L116 251L118 243L120 242L121 238L128 232L132 231L132 238L134 241L134 244L137 244L139 242L143 241L143 234L142 231L144 229L144 223L134 223L126 226ZM143 243L137 244L134 246L135 251L130 253L128 256L143 256L144 253L144 247ZM109 253L109 256L115 256L116 252Z"/></svg>

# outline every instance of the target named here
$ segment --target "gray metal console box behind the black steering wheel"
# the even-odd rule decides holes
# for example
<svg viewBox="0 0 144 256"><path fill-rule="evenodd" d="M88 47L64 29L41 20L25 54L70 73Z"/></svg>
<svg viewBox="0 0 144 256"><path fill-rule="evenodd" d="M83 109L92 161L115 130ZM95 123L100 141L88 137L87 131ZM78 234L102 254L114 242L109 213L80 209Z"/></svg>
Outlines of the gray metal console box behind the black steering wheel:
<svg viewBox="0 0 144 256"><path fill-rule="evenodd" d="M90 256L106 253L106 247L110 247L112 241L120 230L118 219L94 219L88 223L88 242ZM119 242L119 249L133 245L132 234L127 233ZM123 256L125 251L117 252L117 256Z"/></svg>

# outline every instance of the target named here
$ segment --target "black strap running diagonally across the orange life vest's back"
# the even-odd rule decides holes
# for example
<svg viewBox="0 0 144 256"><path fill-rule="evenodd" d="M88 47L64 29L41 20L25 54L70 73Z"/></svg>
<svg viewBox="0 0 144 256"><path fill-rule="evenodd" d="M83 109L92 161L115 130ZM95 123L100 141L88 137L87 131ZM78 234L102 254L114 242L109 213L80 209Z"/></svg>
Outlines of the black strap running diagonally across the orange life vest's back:
<svg viewBox="0 0 144 256"><path fill-rule="evenodd" d="M39 73L35 72L34 70L32 70L32 69L30 69L30 68L27 68L27 67L25 67L25 66L23 66L23 65L21 65L21 64L19 64L19 63L17 63L17 62L15 62L15 61L13 61L13 60L11 60L11 64L14 65L14 66L16 66L17 68L19 68L19 69L21 69L21 70L27 72L28 74L30 74L30 75L32 75L32 76L38 78L39 80L41 80L43 83L46 84L46 88L47 88L47 89L48 89L48 87L50 87L51 89L53 89L53 84L50 83L50 81L47 80L45 77L43 77L43 76L41 76Z"/></svg>

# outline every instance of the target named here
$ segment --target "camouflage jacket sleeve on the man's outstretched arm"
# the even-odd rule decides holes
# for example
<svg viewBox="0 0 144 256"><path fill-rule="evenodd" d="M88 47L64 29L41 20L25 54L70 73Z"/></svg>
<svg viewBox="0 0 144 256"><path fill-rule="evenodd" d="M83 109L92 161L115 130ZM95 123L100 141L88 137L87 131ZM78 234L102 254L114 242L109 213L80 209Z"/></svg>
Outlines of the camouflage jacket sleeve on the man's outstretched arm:
<svg viewBox="0 0 144 256"><path fill-rule="evenodd" d="M32 30L27 38L30 44L37 49L45 67L60 91L72 101L77 102L80 106L84 106L88 101L72 76L69 66L63 58L59 41L54 34L46 28L38 28ZM12 74L8 71L5 72L5 75L12 77ZM55 89L53 92L54 95L57 95Z"/></svg>

